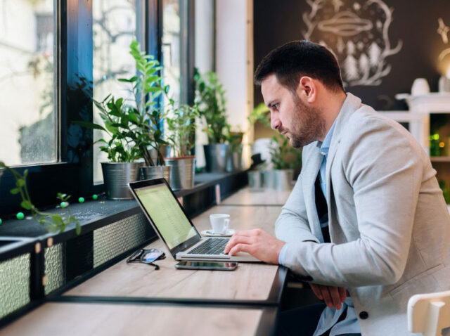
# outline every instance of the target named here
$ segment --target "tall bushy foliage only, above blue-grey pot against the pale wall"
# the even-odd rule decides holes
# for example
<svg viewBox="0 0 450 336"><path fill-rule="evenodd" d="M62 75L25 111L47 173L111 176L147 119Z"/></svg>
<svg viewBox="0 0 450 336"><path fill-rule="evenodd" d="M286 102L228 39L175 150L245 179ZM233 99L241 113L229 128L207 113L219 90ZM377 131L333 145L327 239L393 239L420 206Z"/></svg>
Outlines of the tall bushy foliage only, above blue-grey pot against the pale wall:
<svg viewBox="0 0 450 336"><path fill-rule="evenodd" d="M204 131L209 143L224 143L227 140L226 131L226 99L224 86L220 84L215 72L200 75L197 71L195 79L195 102L198 104L200 117L206 123Z"/></svg>

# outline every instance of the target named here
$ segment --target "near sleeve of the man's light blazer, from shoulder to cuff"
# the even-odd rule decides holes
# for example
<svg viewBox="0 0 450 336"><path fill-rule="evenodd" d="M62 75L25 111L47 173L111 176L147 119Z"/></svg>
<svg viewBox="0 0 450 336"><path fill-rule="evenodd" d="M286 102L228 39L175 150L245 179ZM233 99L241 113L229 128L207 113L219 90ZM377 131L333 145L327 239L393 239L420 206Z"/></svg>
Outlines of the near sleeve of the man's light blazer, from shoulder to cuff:
<svg viewBox="0 0 450 336"><path fill-rule="evenodd" d="M346 129L338 148L341 158L333 162L353 188L360 238L342 244L290 243L283 258L295 273L323 285L396 283L409 253L425 153L390 122L360 119ZM434 178L432 170L428 179Z"/></svg>

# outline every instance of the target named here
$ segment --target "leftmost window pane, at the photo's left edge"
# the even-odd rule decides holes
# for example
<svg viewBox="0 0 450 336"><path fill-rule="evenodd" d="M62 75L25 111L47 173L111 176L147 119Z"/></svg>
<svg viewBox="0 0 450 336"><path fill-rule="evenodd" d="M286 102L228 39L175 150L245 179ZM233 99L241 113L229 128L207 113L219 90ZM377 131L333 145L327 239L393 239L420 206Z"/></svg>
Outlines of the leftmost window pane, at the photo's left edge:
<svg viewBox="0 0 450 336"><path fill-rule="evenodd" d="M0 160L56 161L53 0L0 1Z"/></svg>

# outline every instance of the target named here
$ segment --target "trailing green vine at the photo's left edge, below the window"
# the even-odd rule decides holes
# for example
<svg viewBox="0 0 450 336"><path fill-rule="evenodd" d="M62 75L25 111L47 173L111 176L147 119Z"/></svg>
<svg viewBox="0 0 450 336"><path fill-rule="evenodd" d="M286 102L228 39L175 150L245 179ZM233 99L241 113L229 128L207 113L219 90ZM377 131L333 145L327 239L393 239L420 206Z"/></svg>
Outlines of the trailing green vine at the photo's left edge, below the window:
<svg viewBox="0 0 450 336"><path fill-rule="evenodd" d="M23 207L23 209L28 210L31 212L32 217L34 220L38 221L39 224L43 225L47 231L51 233L57 233L57 232L63 232L65 228L72 222L75 223L75 231L77 232L77 235L81 232L81 226L79 224L79 221L76 217L72 215L72 212L70 212L70 209L68 208L69 205L69 198L70 195L65 195L63 193L58 193L58 200L60 200L65 207L63 207L63 214L53 214L50 212L41 212L37 207L35 207L32 203L32 200L30 198L30 193L28 193L27 188L27 175L28 170L25 170L25 172L22 174L19 174L11 167L8 167L4 162L0 161L0 168L6 169L8 172L13 174L13 177L15 179L15 188L10 190L10 193L13 195L20 195L20 198L22 198L22 202L20 202L20 207Z"/></svg>

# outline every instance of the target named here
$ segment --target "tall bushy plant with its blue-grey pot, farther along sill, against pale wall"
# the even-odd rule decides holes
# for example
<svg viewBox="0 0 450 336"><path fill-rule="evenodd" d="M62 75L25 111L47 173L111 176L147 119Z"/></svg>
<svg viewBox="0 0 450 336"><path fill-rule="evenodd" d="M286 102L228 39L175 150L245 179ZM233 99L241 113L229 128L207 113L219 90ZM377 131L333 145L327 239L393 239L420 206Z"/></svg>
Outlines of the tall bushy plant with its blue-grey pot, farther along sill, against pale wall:
<svg viewBox="0 0 450 336"><path fill-rule="evenodd" d="M226 172L231 148L226 143L226 100L224 87L220 84L215 72L200 75L195 72L195 102L198 104L200 117L205 124L208 145L205 149L207 172Z"/></svg>

